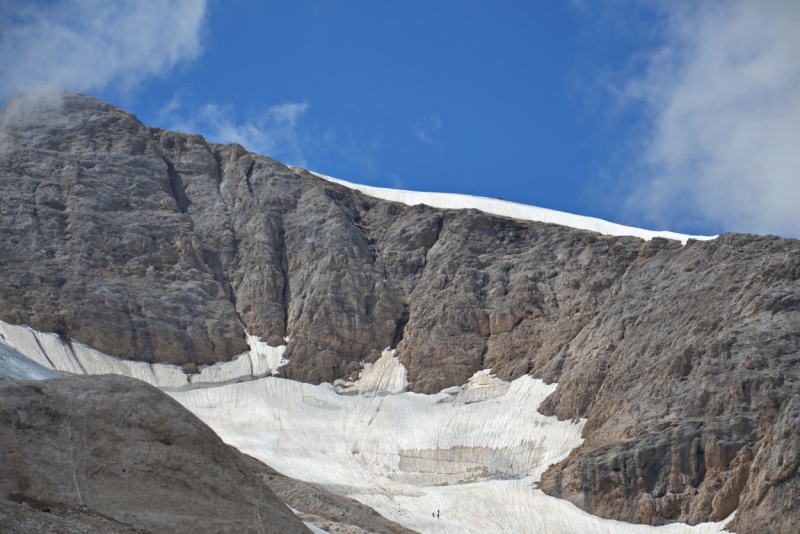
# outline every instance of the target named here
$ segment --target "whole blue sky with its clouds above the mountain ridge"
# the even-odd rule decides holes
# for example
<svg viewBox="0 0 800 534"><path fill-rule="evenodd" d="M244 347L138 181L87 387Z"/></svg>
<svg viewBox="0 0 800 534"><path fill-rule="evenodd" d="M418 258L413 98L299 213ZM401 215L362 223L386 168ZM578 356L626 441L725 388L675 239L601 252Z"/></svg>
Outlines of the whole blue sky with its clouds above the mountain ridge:
<svg viewBox="0 0 800 534"><path fill-rule="evenodd" d="M88 92L352 182L800 235L800 3L0 0L0 96Z"/></svg>

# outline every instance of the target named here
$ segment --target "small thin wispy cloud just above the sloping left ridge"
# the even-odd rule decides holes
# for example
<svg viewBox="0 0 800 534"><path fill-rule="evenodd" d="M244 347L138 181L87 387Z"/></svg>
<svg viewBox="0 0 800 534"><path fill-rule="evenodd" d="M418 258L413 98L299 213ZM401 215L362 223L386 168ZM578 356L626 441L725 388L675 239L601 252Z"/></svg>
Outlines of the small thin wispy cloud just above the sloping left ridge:
<svg viewBox="0 0 800 534"><path fill-rule="evenodd" d="M206 104L185 112L180 99L175 98L161 110L159 122L172 130L200 133L215 143L238 143L289 165L305 166L303 148L318 143L298 129L307 109L306 102L280 104L240 122L230 106Z"/></svg>

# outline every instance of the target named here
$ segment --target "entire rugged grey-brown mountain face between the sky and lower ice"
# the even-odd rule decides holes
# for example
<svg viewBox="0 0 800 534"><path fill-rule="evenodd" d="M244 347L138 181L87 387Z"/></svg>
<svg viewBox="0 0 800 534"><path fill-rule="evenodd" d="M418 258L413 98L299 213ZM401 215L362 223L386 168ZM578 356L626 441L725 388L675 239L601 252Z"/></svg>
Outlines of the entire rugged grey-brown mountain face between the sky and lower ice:
<svg viewBox="0 0 800 534"><path fill-rule="evenodd" d="M491 368L556 392L586 441L547 493L630 522L738 513L794 532L800 242L685 246L365 196L93 98L0 112L0 319L192 372L277 345L353 378L387 346L410 389Z"/></svg>

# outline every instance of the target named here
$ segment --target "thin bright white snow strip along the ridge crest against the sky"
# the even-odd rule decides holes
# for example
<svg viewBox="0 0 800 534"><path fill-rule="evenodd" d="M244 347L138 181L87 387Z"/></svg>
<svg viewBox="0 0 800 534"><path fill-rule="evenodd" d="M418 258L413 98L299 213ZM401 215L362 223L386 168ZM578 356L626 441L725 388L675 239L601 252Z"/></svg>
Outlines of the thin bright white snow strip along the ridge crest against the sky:
<svg viewBox="0 0 800 534"><path fill-rule="evenodd" d="M621 224L604 221L602 219L596 219L594 217L573 215L571 213L550 210L547 208L537 208L536 206L528 206L527 204L509 202L502 199L476 197L458 193L423 193L418 191L405 191L402 189L389 189L386 187L354 184L313 171L309 172L319 176L320 178L328 180L329 182L334 182L347 188L361 191L365 195L381 198L383 200L400 202L409 206L425 204L433 208L441 209L474 208L485 213L500 215L501 217L511 217L513 219L559 224L561 226L589 230L603 235L634 236L644 239L645 241L649 241L654 237L664 237L666 239L675 239L684 245L688 239L709 240L717 237L685 235L667 231L643 230L641 228L623 226Z"/></svg>

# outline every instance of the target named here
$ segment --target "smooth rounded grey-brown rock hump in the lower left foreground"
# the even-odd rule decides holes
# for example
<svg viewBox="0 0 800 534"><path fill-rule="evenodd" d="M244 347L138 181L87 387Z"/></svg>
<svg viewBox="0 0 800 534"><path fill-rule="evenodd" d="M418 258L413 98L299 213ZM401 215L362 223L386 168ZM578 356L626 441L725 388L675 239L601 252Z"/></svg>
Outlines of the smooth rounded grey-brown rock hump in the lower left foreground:
<svg viewBox="0 0 800 534"><path fill-rule="evenodd" d="M310 532L251 463L138 380L0 382L0 500L11 501L0 513L22 526L48 526L33 510L60 508L78 512L56 514L65 530L105 516L100 532Z"/></svg>

